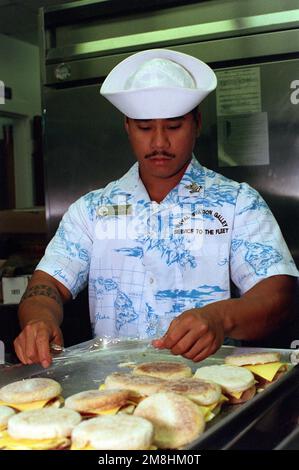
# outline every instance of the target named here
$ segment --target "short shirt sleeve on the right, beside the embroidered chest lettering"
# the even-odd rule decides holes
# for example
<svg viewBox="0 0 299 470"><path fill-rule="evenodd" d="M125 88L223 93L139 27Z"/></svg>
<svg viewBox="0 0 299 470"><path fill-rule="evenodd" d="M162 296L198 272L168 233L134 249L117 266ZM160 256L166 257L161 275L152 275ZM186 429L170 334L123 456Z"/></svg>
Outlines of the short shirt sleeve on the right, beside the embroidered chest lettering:
<svg viewBox="0 0 299 470"><path fill-rule="evenodd" d="M241 295L267 277L299 274L275 217L246 183L240 185L235 208L230 269Z"/></svg>

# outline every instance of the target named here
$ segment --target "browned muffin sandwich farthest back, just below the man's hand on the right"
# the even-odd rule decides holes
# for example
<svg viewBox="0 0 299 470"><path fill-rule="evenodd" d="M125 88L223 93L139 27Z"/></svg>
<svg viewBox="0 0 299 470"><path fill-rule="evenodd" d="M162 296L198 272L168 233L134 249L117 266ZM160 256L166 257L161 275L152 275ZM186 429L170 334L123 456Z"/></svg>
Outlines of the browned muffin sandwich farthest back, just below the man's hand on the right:
<svg viewBox="0 0 299 470"><path fill-rule="evenodd" d="M133 375L147 375L159 379L176 380L192 377L192 370L183 362L144 362L134 367Z"/></svg>

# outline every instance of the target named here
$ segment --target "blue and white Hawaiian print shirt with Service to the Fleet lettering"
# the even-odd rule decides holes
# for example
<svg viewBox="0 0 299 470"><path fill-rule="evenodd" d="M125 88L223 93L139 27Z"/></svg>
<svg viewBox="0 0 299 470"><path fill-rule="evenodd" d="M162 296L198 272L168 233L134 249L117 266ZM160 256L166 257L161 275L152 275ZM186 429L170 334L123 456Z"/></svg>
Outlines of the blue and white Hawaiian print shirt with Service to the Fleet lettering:
<svg viewBox="0 0 299 470"><path fill-rule="evenodd" d="M185 310L242 295L260 280L298 271L262 197L201 166L151 201L138 163L70 206L37 269L73 297L88 283L96 336L161 334Z"/></svg>

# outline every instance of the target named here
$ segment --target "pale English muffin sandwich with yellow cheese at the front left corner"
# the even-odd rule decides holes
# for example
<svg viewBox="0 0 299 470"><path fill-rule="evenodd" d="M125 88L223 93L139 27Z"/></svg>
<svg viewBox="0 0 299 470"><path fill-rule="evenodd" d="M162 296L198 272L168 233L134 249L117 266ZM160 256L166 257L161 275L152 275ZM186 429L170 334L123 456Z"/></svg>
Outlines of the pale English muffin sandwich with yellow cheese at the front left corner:
<svg viewBox="0 0 299 470"><path fill-rule="evenodd" d="M59 450L70 445L72 429L79 413L67 408L21 411L8 421L0 447L7 450Z"/></svg>

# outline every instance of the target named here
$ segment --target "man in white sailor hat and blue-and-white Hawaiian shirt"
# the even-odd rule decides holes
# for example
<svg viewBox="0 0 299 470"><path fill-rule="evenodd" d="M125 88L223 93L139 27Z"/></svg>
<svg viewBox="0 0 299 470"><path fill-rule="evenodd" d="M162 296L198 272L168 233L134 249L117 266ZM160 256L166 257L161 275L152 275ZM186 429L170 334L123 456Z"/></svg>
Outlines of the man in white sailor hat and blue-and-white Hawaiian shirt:
<svg viewBox="0 0 299 470"><path fill-rule="evenodd" d="M64 215L20 305L22 362L50 364L60 303L87 284L95 335L161 336L156 347L194 361L290 315L298 271L267 204L192 154L215 86L206 64L163 49L109 74L101 93L126 115L137 163Z"/></svg>

